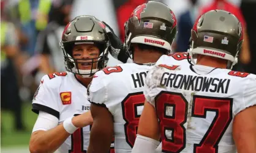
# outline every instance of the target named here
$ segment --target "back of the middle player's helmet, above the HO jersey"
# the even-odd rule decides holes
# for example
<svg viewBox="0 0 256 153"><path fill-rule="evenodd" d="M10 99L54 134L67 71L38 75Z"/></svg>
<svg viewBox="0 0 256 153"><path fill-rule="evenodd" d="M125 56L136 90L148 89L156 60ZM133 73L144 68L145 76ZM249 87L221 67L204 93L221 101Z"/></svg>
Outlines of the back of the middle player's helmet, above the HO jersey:
<svg viewBox="0 0 256 153"><path fill-rule="evenodd" d="M156 13L157 12L157 13ZM139 5L124 24L124 49L133 56L132 43L141 43L171 52L176 37L177 21L170 8L156 1Z"/></svg>

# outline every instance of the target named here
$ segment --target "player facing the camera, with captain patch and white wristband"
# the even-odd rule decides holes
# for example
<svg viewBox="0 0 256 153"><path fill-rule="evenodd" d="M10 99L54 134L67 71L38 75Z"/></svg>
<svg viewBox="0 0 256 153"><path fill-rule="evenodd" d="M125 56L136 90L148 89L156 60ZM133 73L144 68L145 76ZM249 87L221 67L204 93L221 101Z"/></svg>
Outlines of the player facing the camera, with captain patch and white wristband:
<svg viewBox="0 0 256 153"><path fill-rule="evenodd" d="M32 111L39 116L29 143L31 152L88 149L92 118L86 88L108 62L110 43L104 29L94 16L78 16L64 29L60 45L67 71L42 77L32 102Z"/></svg>

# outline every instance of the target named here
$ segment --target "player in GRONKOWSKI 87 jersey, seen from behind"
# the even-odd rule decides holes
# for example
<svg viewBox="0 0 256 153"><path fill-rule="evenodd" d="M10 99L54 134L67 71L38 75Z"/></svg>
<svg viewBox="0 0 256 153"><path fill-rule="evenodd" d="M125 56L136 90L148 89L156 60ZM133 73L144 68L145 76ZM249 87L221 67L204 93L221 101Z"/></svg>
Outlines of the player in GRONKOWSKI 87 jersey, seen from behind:
<svg viewBox="0 0 256 153"><path fill-rule="evenodd" d="M154 152L159 138L162 152L256 152L256 76L230 70L243 43L241 23L211 10L190 40L194 65L165 58L149 70L132 152Z"/></svg>

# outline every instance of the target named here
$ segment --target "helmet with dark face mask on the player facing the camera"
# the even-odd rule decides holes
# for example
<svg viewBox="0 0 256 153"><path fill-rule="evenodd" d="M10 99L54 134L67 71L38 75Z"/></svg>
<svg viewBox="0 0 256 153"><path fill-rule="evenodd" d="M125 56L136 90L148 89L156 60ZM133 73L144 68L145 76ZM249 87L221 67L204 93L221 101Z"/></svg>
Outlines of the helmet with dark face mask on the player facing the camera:
<svg viewBox="0 0 256 153"><path fill-rule="evenodd" d="M66 26L60 46L67 71L86 78L92 77L97 71L107 66L110 43L104 28L104 24L94 16L78 16ZM73 57L73 48L80 44L92 44L99 49L99 57L85 59ZM79 69L78 65L88 65L89 68Z"/></svg>

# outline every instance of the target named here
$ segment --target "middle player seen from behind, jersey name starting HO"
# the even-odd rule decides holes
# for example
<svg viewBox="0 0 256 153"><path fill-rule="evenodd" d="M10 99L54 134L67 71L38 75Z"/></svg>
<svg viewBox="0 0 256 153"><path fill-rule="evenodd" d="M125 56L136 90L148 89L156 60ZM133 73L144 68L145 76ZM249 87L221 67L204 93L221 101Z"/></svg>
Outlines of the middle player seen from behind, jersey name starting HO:
<svg viewBox="0 0 256 153"><path fill-rule="evenodd" d="M105 68L94 75L88 97L94 122L88 153L107 152L113 133L115 152L132 151L145 101L145 77L159 57L170 53L176 18L167 5L149 1L134 10L125 29L124 46L134 63Z"/></svg>

